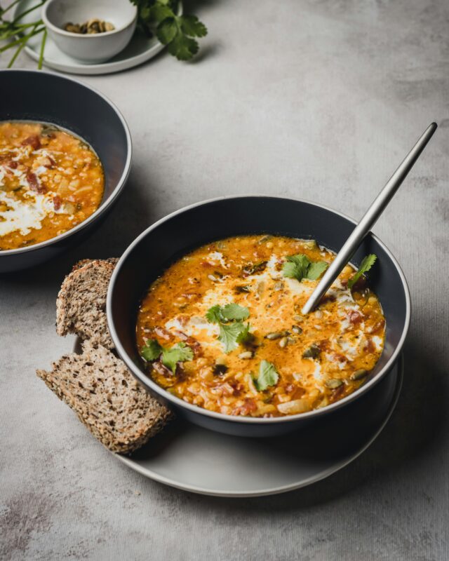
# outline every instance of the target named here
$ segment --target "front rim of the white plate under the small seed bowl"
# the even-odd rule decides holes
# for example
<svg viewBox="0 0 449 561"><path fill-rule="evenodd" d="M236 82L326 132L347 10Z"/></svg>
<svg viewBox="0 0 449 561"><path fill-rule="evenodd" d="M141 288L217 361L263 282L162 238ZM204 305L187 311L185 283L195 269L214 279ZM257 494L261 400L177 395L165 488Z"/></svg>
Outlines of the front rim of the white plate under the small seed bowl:
<svg viewBox="0 0 449 561"><path fill-rule="evenodd" d="M18 10L20 9L21 4L25 0L21 0L17 6L15 6L14 14L17 15ZM184 6L182 4L182 0L179 0L179 7L177 10L177 15L182 15L184 11ZM67 74L78 74L84 76L101 76L103 74L114 74L115 72L123 72L123 70L128 70L130 68L134 68L136 66L142 65L147 60L154 58L157 54L161 52L166 46L163 45L160 41L156 41L156 43L144 50L142 53L138 55L134 55L130 58L126 58L124 60L117 60L114 62L100 62L99 64L95 65L83 65L82 62L74 61L74 64L64 64L60 62L52 62L48 60L45 56L43 57L42 64L46 68L51 68L53 70L57 70L58 72L65 72ZM58 47L57 47L58 48ZM33 60L39 60L39 53L30 47L29 45L25 45L25 53L32 58Z"/></svg>

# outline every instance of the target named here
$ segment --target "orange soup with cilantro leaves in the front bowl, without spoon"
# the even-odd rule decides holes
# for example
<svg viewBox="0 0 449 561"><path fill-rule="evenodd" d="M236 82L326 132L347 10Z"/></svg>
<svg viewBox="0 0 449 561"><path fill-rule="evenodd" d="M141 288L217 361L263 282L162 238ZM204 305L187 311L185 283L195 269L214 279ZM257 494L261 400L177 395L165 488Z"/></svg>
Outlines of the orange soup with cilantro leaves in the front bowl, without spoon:
<svg viewBox="0 0 449 561"><path fill-rule="evenodd" d="M385 320L363 276L348 288L351 266L302 316L334 257L281 236L228 238L182 257L138 311L149 375L182 400L231 415L279 417L347 396L380 357Z"/></svg>

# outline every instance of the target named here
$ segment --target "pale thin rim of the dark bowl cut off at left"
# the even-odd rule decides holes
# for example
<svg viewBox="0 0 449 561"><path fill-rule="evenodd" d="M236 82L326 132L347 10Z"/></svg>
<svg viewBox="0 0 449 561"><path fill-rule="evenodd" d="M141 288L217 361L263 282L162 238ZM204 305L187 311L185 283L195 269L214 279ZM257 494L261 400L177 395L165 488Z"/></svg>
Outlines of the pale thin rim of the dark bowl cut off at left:
<svg viewBox="0 0 449 561"><path fill-rule="evenodd" d="M85 84L85 83L83 83L79 80L76 80L74 78L67 78L66 76L60 76L60 74L57 74L55 72L43 72L42 70L25 70L25 69L4 69L4 70L0 70L0 73L3 73L3 72L22 72L23 74L39 74L39 75L48 74L50 76L55 76L55 77L57 77L61 80L67 80L69 82L74 82L74 83L78 84L79 86L82 86L83 88L86 88L87 90L91 90L93 93L102 97L102 99L105 100L105 102L107 102L107 104L109 104L112 107L112 109L114 109L116 115L119 117L119 121L121 122L121 125L123 126L123 130L125 131L125 135L126 135L126 162L125 162L125 167L123 168L123 173L121 174L121 177L120 177L119 181L117 182L116 186L112 190L112 193L104 201L102 201L100 203L100 206L98 207L98 209L95 210L95 212L93 212L91 214L91 216L87 217L86 220L84 220L83 222L81 222L80 224L75 226L74 228L68 230L67 232L64 232L64 234L60 234L59 236L55 236L54 238L50 238L46 241L41 241L40 243L35 243L34 245L29 245L27 248L18 248L18 249L15 249L15 250L0 251L0 259L1 259L2 255L15 255L15 254L18 254L18 253L32 252L32 251L39 250L41 248L45 248L48 245L59 242L59 241L65 239L65 238L68 238L69 236L72 236L72 234L75 234L77 231L80 231L80 230L86 228L88 226L88 224L91 224L91 222L93 222L98 217L100 217L103 214L103 212L105 212L105 210L107 210L107 208L109 208L109 206L112 205L112 203L114 203L116 198L121 193L123 187L125 187L126 180L128 180L128 176L129 176L129 173L130 173L131 158L132 158L132 155L133 155L133 144L132 144L132 141L131 141L131 134L130 134L130 130L129 130L129 127L128 127L128 123L126 123L123 115L119 111L119 108L116 106L116 104L114 104L111 100L109 100L109 98L106 95L102 94L96 88L92 88L91 86L87 86L87 84Z"/></svg>

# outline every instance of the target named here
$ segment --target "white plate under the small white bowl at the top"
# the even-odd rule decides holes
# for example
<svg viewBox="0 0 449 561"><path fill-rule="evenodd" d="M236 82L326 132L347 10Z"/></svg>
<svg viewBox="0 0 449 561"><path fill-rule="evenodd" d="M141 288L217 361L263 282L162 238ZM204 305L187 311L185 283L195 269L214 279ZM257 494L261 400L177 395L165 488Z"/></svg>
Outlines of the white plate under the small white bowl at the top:
<svg viewBox="0 0 449 561"><path fill-rule="evenodd" d="M22 0L19 2L15 15L27 11L32 6L36 5L36 0ZM178 8L178 15L182 14L182 3L180 2ZM36 19L34 12L27 14L23 18L23 22L32 22ZM39 60L39 50L41 48L41 39L39 36L32 37L27 42L25 52L33 60ZM163 50L162 43L155 38L148 38L144 34L136 32L133 34L132 39L128 46L121 51L114 58L107 62L102 62L97 65L86 65L78 60L75 60L69 55L62 53L62 50L56 46L51 37L48 37L43 55L43 65L47 68L57 70L58 72L67 72L67 74L83 74L83 75L100 75L100 74L113 74L114 72L121 72L138 65L142 65L147 60L152 59Z"/></svg>

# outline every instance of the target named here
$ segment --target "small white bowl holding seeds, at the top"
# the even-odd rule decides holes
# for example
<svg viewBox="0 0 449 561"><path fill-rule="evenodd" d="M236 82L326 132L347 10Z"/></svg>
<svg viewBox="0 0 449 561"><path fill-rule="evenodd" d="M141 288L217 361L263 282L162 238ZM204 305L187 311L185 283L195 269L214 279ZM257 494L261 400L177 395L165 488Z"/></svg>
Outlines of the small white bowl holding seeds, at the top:
<svg viewBox="0 0 449 561"><path fill-rule="evenodd" d="M115 29L86 35L63 29L68 22L81 24L93 18L112 23ZM133 36L137 18L137 7L130 0L47 0L42 8L43 23L58 48L88 64L120 53Z"/></svg>

